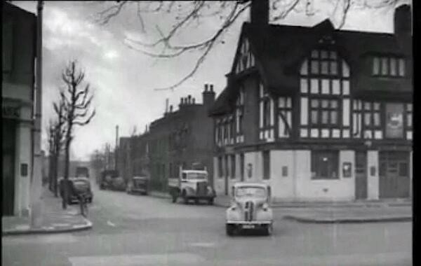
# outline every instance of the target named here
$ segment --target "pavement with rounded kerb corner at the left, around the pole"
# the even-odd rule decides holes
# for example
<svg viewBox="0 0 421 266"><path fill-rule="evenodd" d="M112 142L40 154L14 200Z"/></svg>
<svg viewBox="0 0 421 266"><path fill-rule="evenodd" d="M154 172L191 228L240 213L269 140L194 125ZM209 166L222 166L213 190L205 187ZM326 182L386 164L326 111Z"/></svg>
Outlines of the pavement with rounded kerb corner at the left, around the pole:
<svg viewBox="0 0 421 266"><path fill-rule="evenodd" d="M44 234L74 232L92 228L92 223L81 216L79 204L62 209L60 197L54 197L48 188L43 187L41 195L41 225L31 227L29 217L4 216L1 218L1 235Z"/></svg>

